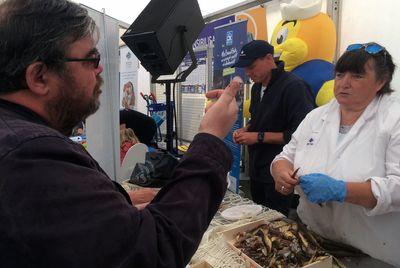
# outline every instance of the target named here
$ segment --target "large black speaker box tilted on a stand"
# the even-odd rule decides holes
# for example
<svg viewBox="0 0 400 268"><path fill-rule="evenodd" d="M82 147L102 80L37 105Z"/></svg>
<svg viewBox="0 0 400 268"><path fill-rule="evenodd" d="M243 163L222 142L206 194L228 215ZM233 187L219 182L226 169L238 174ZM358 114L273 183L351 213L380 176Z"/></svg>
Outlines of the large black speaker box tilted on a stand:
<svg viewBox="0 0 400 268"><path fill-rule="evenodd" d="M173 74L204 28L197 0L152 0L121 39L153 77ZM184 35L183 35L183 34Z"/></svg>

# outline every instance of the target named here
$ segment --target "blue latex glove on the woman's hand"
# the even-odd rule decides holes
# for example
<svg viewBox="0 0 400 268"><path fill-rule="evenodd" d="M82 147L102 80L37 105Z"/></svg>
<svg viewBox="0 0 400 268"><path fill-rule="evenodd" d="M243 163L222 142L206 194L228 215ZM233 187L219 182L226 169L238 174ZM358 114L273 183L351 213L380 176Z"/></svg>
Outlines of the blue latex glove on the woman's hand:
<svg viewBox="0 0 400 268"><path fill-rule="evenodd" d="M346 198L346 183L325 174L311 173L301 176L300 186L312 203L343 202Z"/></svg>

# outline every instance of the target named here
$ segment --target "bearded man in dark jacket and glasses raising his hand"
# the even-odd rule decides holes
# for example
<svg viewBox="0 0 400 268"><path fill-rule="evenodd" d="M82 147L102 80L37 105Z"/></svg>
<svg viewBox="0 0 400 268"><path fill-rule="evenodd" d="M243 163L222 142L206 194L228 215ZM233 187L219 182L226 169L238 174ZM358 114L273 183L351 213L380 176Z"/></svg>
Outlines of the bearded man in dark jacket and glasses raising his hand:
<svg viewBox="0 0 400 268"><path fill-rule="evenodd" d="M142 210L68 138L100 105L97 32L67 0L0 4L1 267L184 267L226 191L238 84Z"/></svg>

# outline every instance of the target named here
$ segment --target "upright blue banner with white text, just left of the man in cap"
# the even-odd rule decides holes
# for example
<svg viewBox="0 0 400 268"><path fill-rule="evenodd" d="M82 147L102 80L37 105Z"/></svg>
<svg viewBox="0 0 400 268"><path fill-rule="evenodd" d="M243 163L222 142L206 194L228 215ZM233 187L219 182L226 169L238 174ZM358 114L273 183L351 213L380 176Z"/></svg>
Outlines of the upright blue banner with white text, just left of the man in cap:
<svg viewBox="0 0 400 268"><path fill-rule="evenodd" d="M244 69L231 68L240 50L247 43L247 21L239 21L215 28L213 88L225 88L235 76L247 81ZM239 104L238 120L224 139L233 154L232 170L229 172L229 189L239 192L240 180L240 148L233 142L232 134L243 127L243 89L236 97Z"/></svg>

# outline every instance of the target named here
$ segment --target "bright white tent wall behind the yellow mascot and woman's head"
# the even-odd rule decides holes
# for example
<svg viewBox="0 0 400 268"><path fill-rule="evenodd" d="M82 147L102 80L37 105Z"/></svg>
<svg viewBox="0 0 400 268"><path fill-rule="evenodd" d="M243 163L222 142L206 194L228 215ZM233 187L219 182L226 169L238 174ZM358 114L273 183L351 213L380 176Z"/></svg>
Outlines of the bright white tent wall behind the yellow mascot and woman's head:
<svg viewBox="0 0 400 268"><path fill-rule="evenodd" d="M275 25L281 20L279 5L285 1L270 1L267 7L268 40ZM393 56L395 64L400 65L400 1L397 0L323 0L323 11L329 14L337 27L337 57L349 44L378 42L385 46ZM400 88L399 70L392 82L395 90Z"/></svg>

